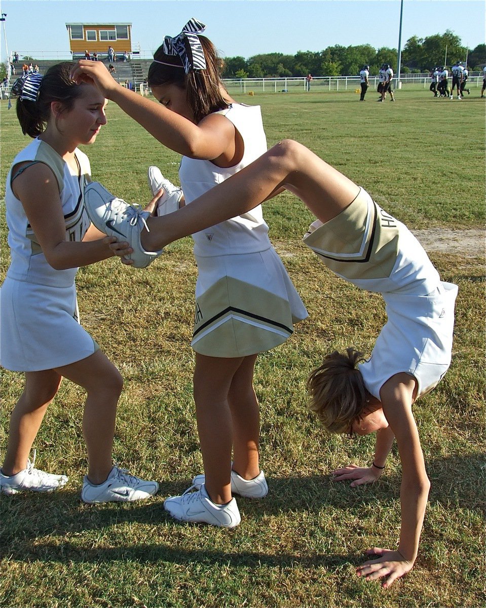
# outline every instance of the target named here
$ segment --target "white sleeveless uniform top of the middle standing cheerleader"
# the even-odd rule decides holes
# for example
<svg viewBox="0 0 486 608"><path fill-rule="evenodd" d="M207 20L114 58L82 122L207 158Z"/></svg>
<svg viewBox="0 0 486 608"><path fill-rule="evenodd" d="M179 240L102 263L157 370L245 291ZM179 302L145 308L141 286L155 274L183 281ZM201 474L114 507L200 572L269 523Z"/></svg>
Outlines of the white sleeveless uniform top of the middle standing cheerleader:
<svg viewBox="0 0 486 608"><path fill-rule="evenodd" d="M183 156L179 167L179 179L186 204L190 204L215 185L238 173L267 150L260 106L234 103L230 108L221 110L218 114L223 114L228 120L231 120L243 138L245 146L243 157L234 167L217 167L211 161ZM263 219L260 205L251 212L196 232L192 238L194 254L204 257L255 253L271 246L268 226Z"/></svg>

